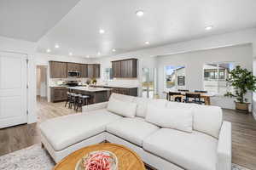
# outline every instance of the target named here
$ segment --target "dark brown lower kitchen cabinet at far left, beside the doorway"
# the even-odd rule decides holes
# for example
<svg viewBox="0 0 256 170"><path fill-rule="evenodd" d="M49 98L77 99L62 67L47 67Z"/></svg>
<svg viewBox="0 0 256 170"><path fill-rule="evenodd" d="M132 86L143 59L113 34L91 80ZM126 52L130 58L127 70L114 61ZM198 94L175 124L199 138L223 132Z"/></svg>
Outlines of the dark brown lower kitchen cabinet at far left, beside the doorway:
<svg viewBox="0 0 256 170"><path fill-rule="evenodd" d="M67 99L67 88L50 88L52 102L64 101Z"/></svg>

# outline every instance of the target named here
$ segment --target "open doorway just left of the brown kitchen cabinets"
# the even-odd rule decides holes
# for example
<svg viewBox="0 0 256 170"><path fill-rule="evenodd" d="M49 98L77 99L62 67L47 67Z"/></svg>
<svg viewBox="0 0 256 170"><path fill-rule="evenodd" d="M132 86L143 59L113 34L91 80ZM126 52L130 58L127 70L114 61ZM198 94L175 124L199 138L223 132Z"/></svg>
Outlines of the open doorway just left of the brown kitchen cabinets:
<svg viewBox="0 0 256 170"><path fill-rule="evenodd" d="M37 65L37 100L48 98L47 65Z"/></svg>

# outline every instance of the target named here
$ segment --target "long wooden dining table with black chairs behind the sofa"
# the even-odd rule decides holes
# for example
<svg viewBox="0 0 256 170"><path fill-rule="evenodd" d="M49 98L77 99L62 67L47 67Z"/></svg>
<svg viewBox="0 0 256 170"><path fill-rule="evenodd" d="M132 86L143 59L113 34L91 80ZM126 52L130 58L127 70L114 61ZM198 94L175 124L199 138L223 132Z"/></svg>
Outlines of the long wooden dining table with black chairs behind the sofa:
<svg viewBox="0 0 256 170"><path fill-rule="evenodd" d="M172 97L174 99L179 97L179 98L182 99L182 101L183 101L183 99L185 99L186 94L200 94L201 99L204 99L204 101L205 101L205 105L211 105L211 97L215 96L215 94L211 94L211 93L179 92L179 91L172 91L172 92L180 93L180 94L177 94L177 95L172 95ZM168 100L171 99L171 96L169 95L169 92L165 91L164 94L166 94L166 99L168 99Z"/></svg>

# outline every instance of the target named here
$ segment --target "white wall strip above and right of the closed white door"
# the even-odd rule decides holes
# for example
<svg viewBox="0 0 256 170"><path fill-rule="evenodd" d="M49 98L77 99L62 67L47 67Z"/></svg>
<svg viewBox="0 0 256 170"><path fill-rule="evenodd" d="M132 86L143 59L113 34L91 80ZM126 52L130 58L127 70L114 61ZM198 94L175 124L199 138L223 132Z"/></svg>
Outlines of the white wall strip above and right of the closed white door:
<svg viewBox="0 0 256 170"><path fill-rule="evenodd" d="M0 37L0 51L27 54L28 63L28 117L27 122L37 122L36 113L36 68L34 53L37 44L7 37ZM10 65L11 66L11 65Z"/></svg>

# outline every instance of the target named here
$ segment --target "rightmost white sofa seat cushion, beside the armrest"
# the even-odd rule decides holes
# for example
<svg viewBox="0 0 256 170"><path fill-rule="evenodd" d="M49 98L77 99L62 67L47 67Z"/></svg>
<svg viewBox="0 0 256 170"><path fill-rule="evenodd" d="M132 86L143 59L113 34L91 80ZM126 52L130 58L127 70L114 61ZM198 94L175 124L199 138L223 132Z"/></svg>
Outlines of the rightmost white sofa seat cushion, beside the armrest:
<svg viewBox="0 0 256 170"><path fill-rule="evenodd" d="M189 170L216 170L218 140L205 133L161 128L143 140L143 149Z"/></svg>

